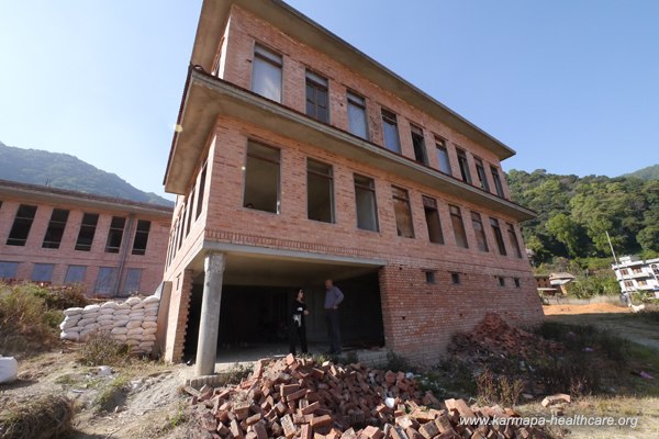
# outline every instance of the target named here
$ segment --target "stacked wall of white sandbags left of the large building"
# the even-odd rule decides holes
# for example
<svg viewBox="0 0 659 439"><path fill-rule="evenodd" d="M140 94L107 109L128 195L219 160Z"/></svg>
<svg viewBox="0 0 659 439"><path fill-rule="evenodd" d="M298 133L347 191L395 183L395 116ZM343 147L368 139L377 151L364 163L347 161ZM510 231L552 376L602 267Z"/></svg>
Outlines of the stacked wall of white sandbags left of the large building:
<svg viewBox="0 0 659 439"><path fill-rule="evenodd" d="M83 308L68 308L59 325L59 338L87 341L96 331L108 331L113 339L131 347L132 352L150 352L156 341L158 306L155 295L131 297L123 303L105 302Z"/></svg>

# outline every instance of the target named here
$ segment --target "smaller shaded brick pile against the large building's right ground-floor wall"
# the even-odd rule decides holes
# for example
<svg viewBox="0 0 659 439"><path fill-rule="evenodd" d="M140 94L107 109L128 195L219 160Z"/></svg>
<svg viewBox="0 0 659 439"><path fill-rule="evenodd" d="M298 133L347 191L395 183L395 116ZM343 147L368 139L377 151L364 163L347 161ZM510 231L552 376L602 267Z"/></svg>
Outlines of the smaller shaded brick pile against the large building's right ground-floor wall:
<svg viewBox="0 0 659 439"><path fill-rule="evenodd" d="M562 345L510 326L499 314L488 313L471 333L457 334L449 353L463 360L503 354L522 359L544 358L562 350Z"/></svg>

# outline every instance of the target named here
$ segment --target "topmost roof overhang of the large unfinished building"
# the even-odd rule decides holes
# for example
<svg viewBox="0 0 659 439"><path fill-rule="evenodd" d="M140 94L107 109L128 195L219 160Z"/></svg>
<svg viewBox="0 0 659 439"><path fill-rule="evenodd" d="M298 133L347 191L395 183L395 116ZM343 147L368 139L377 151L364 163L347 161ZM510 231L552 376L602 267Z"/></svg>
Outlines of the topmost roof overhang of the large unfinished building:
<svg viewBox="0 0 659 439"><path fill-rule="evenodd" d="M355 74L368 78L378 87L488 148L500 160L515 155L515 151L502 142L281 0L204 0L194 37L190 61L192 65L212 71L233 4L348 66Z"/></svg>

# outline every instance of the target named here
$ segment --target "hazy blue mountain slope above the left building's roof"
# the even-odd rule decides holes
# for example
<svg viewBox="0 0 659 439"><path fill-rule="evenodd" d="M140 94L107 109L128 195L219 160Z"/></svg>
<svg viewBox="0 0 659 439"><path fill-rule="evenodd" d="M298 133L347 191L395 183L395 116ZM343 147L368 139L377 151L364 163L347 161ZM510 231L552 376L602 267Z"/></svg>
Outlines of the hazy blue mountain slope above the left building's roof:
<svg viewBox="0 0 659 439"><path fill-rule="evenodd" d="M0 179L142 203L174 205L169 200L153 192L141 191L116 175L98 169L68 154L15 148L2 142L0 142Z"/></svg>

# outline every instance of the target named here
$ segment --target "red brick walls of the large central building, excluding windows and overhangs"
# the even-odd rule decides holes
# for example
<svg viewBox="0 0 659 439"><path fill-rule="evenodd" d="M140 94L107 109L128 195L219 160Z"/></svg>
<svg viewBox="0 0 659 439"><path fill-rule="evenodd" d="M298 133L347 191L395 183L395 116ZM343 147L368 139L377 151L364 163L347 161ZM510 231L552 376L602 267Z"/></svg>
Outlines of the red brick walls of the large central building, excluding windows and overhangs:
<svg viewBox="0 0 659 439"><path fill-rule="evenodd" d="M236 3L245 5L241 1ZM202 11L202 15L203 13ZM286 30L277 29L263 16L258 18L239 5L231 7L227 23L221 32L223 37L217 46L220 59L215 64L216 77L239 89L249 90L254 47L256 44L266 46L282 56L283 108L304 114L305 70L310 69L328 79L330 123L326 130L345 132L348 128L346 91L353 90L366 99L368 142L383 149L381 109L387 109L398 117L401 156L410 161L414 160L410 134L413 124L423 130L428 158L426 167L433 172L438 172L439 167L435 139L445 142L451 176L448 183L420 183L369 160L355 160L340 151L321 148L314 144L314 139L300 139L269 130L261 120L217 114L213 127L208 131L205 144L196 145L200 149L200 159L190 177L185 180L187 189L185 194L179 195L175 207L165 280L175 281L191 269L202 275L199 271L200 256L217 246L239 246L252 250L235 251L249 251L264 257L273 251L288 251L328 260L381 260L384 261L378 271L381 303L372 305L381 306L386 345L389 349L424 363L436 362L451 335L458 330L471 329L487 312L499 312L517 325L532 325L541 319L541 307L518 227L520 218L530 217L532 214L522 206L513 207L513 211L518 210L520 213L503 209L504 204L510 207L513 203L509 201L509 188L500 166L501 150L477 142L472 135L466 134L467 131L449 127L442 120L420 110L414 100L402 99L394 90L384 89L368 77L356 75L350 67L291 37ZM356 58L359 56L361 55L355 54ZM206 71L211 71L208 66L204 67ZM187 124L192 126L194 121L186 117L196 116L181 116L183 127ZM243 206L249 142L258 142L280 150L278 213ZM177 138L175 145L176 143ZM478 198L462 198L453 190L451 185L463 184L456 148L467 153L473 184L478 181L476 159L480 158L484 162L490 188L488 196L494 201L481 203ZM204 196L198 201L190 194L193 191L199 194L201 169L206 157ZM310 158L332 166L335 210L333 223L308 218L306 164ZM189 160L190 157L172 149L168 172L177 165L177 159ZM495 193L490 167L499 171L503 198ZM375 181L378 232L357 227L355 173ZM166 177L166 187L169 184L168 178ZM401 237L396 232L392 185L409 193L414 238ZM480 188L478 191L485 192ZM443 245L429 241L422 195L437 201L445 240ZM187 202L188 200L191 201ZM199 202L202 203L201 213L197 217ZM449 205L461 210L469 248L461 248L456 244ZM188 225L186 218L190 217L190 210L194 215ZM478 249L471 212L481 216L489 251ZM496 218L501 225L506 255L500 255L496 249L496 237L490 227L490 218ZM509 224L513 225L521 257L509 237ZM231 270L230 255L227 271ZM432 272L432 277L427 272ZM258 279L254 282L257 283ZM185 302L187 299L183 296L180 300ZM172 295L172 302L176 301L175 297L178 296ZM170 307L170 326L175 324L177 327L185 327L187 305L181 305L180 308L177 306L172 303ZM172 328L170 333L168 337L175 337L176 333L176 340L168 340L168 346L175 346L180 337L179 329ZM168 351L167 359L179 359L178 351L172 349L171 352Z"/></svg>

